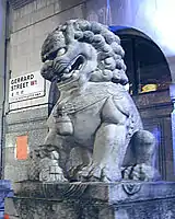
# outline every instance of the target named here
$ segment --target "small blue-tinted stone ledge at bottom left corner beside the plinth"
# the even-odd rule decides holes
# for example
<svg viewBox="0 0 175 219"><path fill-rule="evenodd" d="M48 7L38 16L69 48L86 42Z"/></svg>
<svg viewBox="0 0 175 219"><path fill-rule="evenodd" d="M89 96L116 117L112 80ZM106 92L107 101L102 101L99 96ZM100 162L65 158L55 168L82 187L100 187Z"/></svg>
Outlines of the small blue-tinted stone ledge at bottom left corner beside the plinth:
<svg viewBox="0 0 175 219"><path fill-rule="evenodd" d="M4 199L12 196L13 192L10 181L0 181L0 219L3 219L4 215Z"/></svg>

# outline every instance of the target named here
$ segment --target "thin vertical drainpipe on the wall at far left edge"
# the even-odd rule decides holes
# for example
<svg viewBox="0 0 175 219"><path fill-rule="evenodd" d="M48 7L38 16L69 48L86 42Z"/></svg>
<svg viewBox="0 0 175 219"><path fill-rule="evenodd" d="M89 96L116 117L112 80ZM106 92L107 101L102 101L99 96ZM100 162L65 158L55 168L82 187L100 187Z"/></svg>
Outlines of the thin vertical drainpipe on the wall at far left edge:
<svg viewBox="0 0 175 219"><path fill-rule="evenodd" d="M8 8L9 1L0 3L0 178L3 178L4 154L4 104L5 104L5 76L7 76L7 36L8 36Z"/></svg>

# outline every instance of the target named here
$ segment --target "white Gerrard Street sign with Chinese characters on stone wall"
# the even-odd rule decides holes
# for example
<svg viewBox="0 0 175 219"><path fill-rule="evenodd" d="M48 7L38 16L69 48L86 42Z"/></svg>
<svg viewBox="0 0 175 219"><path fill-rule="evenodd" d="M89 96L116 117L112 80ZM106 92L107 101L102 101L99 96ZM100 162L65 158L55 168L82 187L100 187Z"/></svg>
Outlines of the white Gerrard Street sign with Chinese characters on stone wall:
<svg viewBox="0 0 175 219"><path fill-rule="evenodd" d="M39 71L10 79L9 103L45 95L45 80Z"/></svg>

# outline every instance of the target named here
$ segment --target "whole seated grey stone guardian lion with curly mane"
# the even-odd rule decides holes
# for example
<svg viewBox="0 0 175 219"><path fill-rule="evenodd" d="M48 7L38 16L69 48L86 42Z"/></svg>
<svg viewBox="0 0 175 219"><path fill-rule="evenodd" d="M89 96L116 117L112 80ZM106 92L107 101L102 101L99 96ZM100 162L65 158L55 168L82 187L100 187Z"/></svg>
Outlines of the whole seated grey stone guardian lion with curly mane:
<svg viewBox="0 0 175 219"><path fill-rule="evenodd" d="M42 47L42 76L60 95L49 131L35 150L40 181L154 180L155 139L143 130L128 83L120 39L84 20L59 25Z"/></svg>

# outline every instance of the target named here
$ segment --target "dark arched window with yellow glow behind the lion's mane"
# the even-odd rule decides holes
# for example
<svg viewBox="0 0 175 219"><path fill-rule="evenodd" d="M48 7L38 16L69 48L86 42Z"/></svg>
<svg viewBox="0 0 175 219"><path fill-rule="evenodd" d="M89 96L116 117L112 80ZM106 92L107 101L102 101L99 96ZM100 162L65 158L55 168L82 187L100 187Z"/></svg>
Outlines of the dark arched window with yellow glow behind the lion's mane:
<svg viewBox="0 0 175 219"><path fill-rule="evenodd" d="M124 33L125 32L125 33ZM161 49L142 33L133 30L119 30L116 34L121 39L126 53L125 62L129 78L129 92L137 95L168 89L171 74Z"/></svg>

